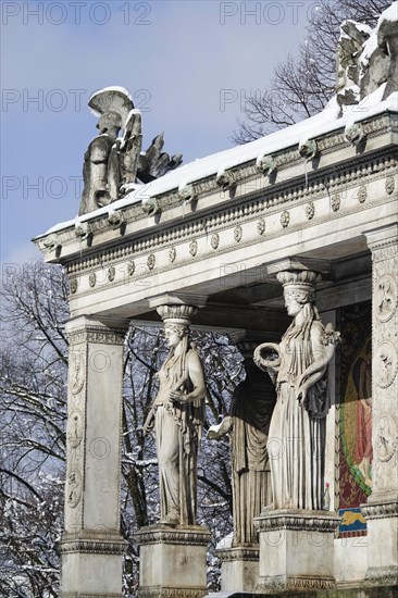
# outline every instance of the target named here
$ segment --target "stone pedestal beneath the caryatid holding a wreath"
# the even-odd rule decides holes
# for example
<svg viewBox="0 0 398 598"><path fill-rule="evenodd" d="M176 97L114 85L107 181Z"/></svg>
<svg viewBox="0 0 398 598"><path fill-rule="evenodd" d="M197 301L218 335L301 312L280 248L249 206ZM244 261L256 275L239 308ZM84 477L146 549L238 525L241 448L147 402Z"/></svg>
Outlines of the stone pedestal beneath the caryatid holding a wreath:
<svg viewBox="0 0 398 598"><path fill-rule="evenodd" d="M260 538L257 591L286 594L332 589L334 533L339 518L327 511L283 509L256 520Z"/></svg>

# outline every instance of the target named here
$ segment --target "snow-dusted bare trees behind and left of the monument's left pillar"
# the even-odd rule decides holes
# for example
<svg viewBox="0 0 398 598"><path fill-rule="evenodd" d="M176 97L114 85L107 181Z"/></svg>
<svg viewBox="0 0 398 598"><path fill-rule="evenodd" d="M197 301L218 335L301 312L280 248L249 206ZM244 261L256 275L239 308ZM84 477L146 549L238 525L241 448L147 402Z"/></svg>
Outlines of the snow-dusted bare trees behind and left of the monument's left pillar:
<svg viewBox="0 0 398 598"><path fill-rule="evenodd" d="M32 264L3 277L0 349L0 595L52 598L59 590L59 541L65 472L67 283L60 267ZM192 333L204 358L207 425L228 411L242 375L225 338ZM160 328L132 326L123 400L122 533L128 540L124 590L138 582L135 532L159 519L154 438L142 425L167 349ZM215 543L231 531L227 440L203 440L198 463L198 521L213 533L209 588L217 589Z"/></svg>

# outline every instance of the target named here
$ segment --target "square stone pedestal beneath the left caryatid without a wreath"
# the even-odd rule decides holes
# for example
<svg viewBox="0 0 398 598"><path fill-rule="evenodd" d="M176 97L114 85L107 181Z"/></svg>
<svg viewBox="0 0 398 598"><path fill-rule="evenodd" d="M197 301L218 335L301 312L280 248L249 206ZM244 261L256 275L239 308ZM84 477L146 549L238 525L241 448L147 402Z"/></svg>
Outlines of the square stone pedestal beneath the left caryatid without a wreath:
<svg viewBox="0 0 398 598"><path fill-rule="evenodd" d="M141 527L139 598L200 598L207 589L207 551L211 534L202 525Z"/></svg>

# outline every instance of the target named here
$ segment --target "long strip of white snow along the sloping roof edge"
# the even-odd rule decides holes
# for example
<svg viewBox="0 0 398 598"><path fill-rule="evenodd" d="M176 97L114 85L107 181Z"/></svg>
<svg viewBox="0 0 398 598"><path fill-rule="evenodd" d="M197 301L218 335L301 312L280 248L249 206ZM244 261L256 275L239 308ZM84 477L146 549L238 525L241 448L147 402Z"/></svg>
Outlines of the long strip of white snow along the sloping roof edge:
<svg viewBox="0 0 398 598"><path fill-rule="evenodd" d="M344 115L339 117L340 108L337 104L336 98L332 98L326 108L299 123L288 126L284 129L271 133L265 137L261 137L256 141L237 146L235 148L221 151L197 159L194 162L179 166L175 171L169 172L164 176L152 180L146 185L132 185L132 191L124 198L112 202L110 205L104 205L75 219L57 224L51 227L45 235L55 233L58 231L76 226L79 223L87 222L92 217L107 214L110 210L114 211L120 208L126 208L135 203L146 203L151 198L171 191L173 189L182 189L189 183L200 180L208 176L216 175L234 166L238 166L246 162L257 160L259 155L266 155L281 151L291 146L302 145L308 139L313 139L332 133L333 130L348 127L356 122L363 121L371 116L375 116L385 111L398 112L398 92L391 94L389 98L382 100L385 89L383 84L371 96L368 96L359 104L344 107ZM39 235L39 236L45 236Z"/></svg>

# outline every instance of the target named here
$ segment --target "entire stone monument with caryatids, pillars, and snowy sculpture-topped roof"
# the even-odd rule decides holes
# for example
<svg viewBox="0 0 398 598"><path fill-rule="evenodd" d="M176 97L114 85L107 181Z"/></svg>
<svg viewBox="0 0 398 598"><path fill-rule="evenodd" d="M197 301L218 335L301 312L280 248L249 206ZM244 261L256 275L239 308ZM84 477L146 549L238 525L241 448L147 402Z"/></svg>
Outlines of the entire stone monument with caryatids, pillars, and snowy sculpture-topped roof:
<svg viewBox="0 0 398 598"><path fill-rule="evenodd" d="M386 597L396 594L397 10L395 1L373 30L343 25L337 95L320 114L173 173L181 157L162 151L162 136L140 151L140 115L126 90L107 88L91 98L99 135L85 157L79 215L35 239L46 262L62 264L70 279L62 598L122 595L123 342L129 322L153 324L160 306L166 307L162 315L173 306L172 317L184 322L167 333L175 351L160 373L162 389L153 406L162 521L138 534L140 593L206 593L209 532L195 515L203 399L201 390L191 395L202 382L195 382L195 366L190 372L191 359L197 373L200 366L189 348L190 373L172 386L179 382L174 365L187 372L177 337L187 338L192 307L206 297L198 326L281 338L287 323L275 272L294 321L281 342L256 352L277 393L268 438L272 498L257 518L258 591L321 591L336 584L338 593L357 588L356 597L372 596L369 586ZM343 541L357 536L333 537L341 487L333 458L324 454L325 421L332 456L341 443L338 404L325 420L326 383L334 382L326 370L327 364L336 373L341 369L338 360L329 361L338 338L319 319L315 284L320 312L336 322L346 308L372 306L372 412L363 427L372 429L372 447L363 445L366 460L359 463L372 485L357 513L364 515L365 527L360 550ZM189 395L192 402L185 404ZM163 424L172 429L172 443L162 443ZM177 446L178 457L166 453ZM334 485L331 511L323 500L324 468ZM235 482L238 487L244 477Z"/></svg>

